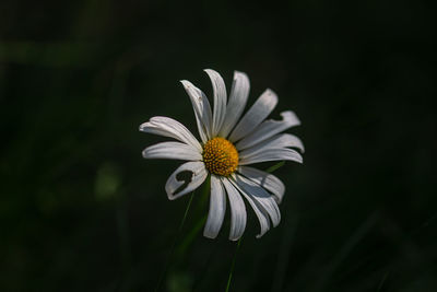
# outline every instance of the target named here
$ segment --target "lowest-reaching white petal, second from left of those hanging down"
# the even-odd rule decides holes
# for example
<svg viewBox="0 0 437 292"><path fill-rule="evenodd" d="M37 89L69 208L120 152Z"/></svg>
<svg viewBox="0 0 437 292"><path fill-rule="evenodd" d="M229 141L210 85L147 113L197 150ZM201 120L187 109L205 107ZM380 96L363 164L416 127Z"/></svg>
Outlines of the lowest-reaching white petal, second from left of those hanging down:
<svg viewBox="0 0 437 292"><path fill-rule="evenodd" d="M238 241L246 229L246 206L238 190L231 184L226 177L221 177L223 185L226 188L231 205L231 232L229 240Z"/></svg>

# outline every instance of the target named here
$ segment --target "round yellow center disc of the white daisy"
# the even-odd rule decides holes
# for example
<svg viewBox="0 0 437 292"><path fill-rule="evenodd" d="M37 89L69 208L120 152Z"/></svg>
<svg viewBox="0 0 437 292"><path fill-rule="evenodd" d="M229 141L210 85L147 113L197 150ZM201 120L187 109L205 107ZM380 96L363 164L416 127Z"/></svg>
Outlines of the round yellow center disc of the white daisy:
<svg viewBox="0 0 437 292"><path fill-rule="evenodd" d="M235 145L224 138L216 137L203 145L203 162L212 174L228 176L238 166L238 152Z"/></svg>

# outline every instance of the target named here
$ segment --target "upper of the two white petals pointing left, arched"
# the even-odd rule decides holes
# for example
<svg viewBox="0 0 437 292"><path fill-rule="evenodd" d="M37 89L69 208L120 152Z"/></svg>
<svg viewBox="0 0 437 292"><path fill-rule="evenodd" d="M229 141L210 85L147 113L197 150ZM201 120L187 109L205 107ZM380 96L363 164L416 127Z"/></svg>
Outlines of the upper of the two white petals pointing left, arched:
<svg viewBox="0 0 437 292"><path fill-rule="evenodd" d="M187 144L193 145L202 152L202 145L194 136L179 121L168 117L153 117L150 121L141 124L140 131L170 137Z"/></svg>

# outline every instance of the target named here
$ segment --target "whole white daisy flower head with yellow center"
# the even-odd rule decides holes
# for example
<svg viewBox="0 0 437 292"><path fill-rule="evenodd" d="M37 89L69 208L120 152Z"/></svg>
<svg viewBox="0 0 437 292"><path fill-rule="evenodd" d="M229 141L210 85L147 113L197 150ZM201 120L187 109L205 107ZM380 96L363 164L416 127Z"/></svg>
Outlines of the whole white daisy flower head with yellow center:
<svg viewBox="0 0 437 292"><path fill-rule="evenodd" d="M300 124L291 112L281 114L282 120L264 120L277 104L277 96L265 90L243 116L249 95L249 79L235 71L229 100L222 77L214 70L204 70L214 92L214 112L204 93L187 80L180 81L190 96L201 141L180 122L168 117L153 117L140 126L140 131L170 137L179 142L162 142L144 149L144 159L174 159L188 161L168 178L165 190L168 199L177 199L198 188L211 175L210 211L203 235L215 238L226 210L226 194L231 207L229 240L237 241L246 227L246 207L241 196L258 217L261 237L270 224L281 221L277 205L285 191L284 184L274 175L248 165L267 161L303 162L302 141L282 131ZM189 171L191 180L177 179L177 174Z"/></svg>

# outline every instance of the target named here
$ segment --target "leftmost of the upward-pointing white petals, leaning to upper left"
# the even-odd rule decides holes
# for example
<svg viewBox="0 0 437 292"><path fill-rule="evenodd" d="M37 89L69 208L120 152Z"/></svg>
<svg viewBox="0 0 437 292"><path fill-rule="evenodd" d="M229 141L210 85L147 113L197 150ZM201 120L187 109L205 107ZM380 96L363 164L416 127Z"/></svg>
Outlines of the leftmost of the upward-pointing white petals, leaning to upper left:
<svg viewBox="0 0 437 292"><path fill-rule="evenodd" d="M199 135L203 142L211 139L212 114L210 102L204 93L187 80L180 81L190 96L194 109L196 121L199 128Z"/></svg>

